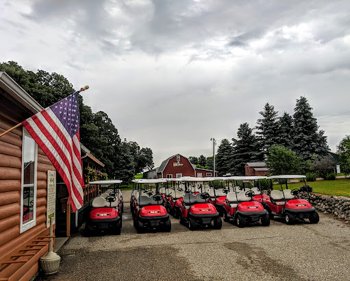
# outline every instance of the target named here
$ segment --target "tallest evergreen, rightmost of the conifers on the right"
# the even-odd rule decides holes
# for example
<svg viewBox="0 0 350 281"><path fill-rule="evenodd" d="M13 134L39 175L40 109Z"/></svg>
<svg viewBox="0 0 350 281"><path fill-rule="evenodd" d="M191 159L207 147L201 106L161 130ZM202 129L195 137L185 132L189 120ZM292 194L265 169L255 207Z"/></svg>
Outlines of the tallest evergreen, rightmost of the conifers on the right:
<svg viewBox="0 0 350 281"><path fill-rule="evenodd" d="M305 97L297 99L293 115L293 151L303 160L312 160L314 155L327 156L329 147L324 132L318 132L317 121Z"/></svg>

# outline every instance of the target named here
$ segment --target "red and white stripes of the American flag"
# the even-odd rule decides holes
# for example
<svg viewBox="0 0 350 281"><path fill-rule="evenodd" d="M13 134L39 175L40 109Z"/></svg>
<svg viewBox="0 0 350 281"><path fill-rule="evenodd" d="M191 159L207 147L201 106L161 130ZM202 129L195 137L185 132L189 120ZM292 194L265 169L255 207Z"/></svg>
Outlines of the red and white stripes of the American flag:
<svg viewBox="0 0 350 281"><path fill-rule="evenodd" d="M79 132L71 138L51 108L38 112L22 124L61 175L75 212L84 204Z"/></svg>

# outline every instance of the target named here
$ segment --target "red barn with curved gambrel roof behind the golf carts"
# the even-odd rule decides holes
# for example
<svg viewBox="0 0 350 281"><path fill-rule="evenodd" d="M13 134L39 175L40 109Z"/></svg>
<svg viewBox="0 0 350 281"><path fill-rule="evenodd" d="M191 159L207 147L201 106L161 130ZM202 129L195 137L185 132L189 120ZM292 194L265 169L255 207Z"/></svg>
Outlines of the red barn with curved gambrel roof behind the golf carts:
<svg viewBox="0 0 350 281"><path fill-rule="evenodd" d="M217 176L218 172L215 171ZM176 154L164 160L157 171L157 178L180 178L180 177L212 177L212 170L197 168L188 158Z"/></svg>

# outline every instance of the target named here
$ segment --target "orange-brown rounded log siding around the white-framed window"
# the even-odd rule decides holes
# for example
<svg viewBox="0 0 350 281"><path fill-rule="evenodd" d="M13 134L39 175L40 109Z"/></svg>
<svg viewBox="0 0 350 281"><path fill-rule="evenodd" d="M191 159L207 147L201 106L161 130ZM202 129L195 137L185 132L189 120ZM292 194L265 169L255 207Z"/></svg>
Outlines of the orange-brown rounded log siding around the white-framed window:
<svg viewBox="0 0 350 281"><path fill-rule="evenodd" d="M0 133L27 119L34 113L28 112L20 103L3 93L0 89ZM18 272L36 273L38 258L23 263L3 264L13 254L21 254L21 249L35 237L47 234L46 202L47 202L47 170L55 170L50 160L38 148L38 172L36 191L36 225L20 233L21 221L21 167L22 167L22 127L0 138L0 278L20 279ZM41 256L47 247L39 251ZM46 250L45 250L46 249ZM17 269L21 269L17 272ZM36 269L36 270L34 270ZM30 274L29 274L30 275ZM12 276L12 278L11 278ZM22 276L23 277L23 276ZM31 278L32 276L28 276ZM26 279L26 278L25 278Z"/></svg>

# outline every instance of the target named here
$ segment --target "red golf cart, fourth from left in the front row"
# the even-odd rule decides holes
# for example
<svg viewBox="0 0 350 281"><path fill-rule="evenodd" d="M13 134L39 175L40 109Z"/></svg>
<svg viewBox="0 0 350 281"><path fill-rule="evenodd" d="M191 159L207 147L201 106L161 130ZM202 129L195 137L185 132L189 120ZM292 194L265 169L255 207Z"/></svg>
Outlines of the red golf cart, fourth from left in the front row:
<svg viewBox="0 0 350 281"><path fill-rule="evenodd" d="M266 177L259 177L260 179ZM255 177L229 177L227 181L232 180L236 183L238 181L245 182L255 180ZM240 190L241 188L241 190ZM259 195L260 196L260 195ZM270 225L270 217L268 212L264 209L264 206L260 202L253 199L255 192L250 188L242 188L240 186L234 186L233 191L227 193L224 203L225 212L223 213L224 221L230 221L233 219L238 228L244 228L248 223L255 223L261 221L263 226Z"/></svg>

